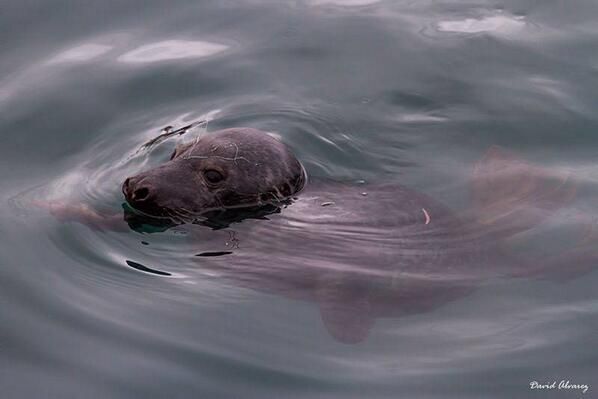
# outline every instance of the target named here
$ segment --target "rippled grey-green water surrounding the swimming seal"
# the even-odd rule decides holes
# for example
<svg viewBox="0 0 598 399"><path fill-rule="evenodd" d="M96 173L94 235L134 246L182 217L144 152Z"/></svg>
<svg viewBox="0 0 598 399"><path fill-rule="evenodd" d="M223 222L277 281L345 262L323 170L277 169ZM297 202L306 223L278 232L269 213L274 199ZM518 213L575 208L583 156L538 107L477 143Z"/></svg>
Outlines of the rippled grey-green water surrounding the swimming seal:
<svg viewBox="0 0 598 399"><path fill-rule="evenodd" d="M140 145L205 117L208 131L275 133L311 176L401 183L456 212L471 206L473 165L500 145L578 186L510 238L546 262L596 222L597 19L590 0L3 2L2 397L595 397L595 271L492 278L429 308L399 295L387 307L403 313L348 343L321 303L268 279L235 281L234 229L199 241L190 227L99 231L33 204L119 212L123 179L165 161L174 140ZM368 196L379 215L378 200ZM257 223L269 230L238 229L247 237ZM326 252L297 245L287 267L280 255L294 246L277 236L261 259L236 259L302 281L288 267L301 259L363 261L350 255L371 237L353 234ZM376 294L411 288L376 278ZM589 389L532 391L534 380Z"/></svg>

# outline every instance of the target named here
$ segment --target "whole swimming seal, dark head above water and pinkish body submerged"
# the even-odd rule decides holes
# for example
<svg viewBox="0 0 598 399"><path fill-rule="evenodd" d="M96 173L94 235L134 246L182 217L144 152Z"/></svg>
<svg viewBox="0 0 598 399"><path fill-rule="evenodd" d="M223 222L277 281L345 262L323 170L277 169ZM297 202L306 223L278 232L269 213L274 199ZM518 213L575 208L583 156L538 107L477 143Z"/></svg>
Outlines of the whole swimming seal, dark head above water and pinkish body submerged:
<svg viewBox="0 0 598 399"><path fill-rule="evenodd" d="M332 336L359 342L378 317L425 312L483 279L520 272L525 262L502 256L500 239L531 229L574 192L560 179L547 185L547 176L493 149L476 166L474 209L464 217L395 183L304 189L305 170L283 143L235 128L178 147L165 164L126 179L122 191L135 209L179 224L215 211L255 217L270 207L261 214L267 221L198 228L202 268L313 300ZM221 254L224 262L214 258Z"/></svg>

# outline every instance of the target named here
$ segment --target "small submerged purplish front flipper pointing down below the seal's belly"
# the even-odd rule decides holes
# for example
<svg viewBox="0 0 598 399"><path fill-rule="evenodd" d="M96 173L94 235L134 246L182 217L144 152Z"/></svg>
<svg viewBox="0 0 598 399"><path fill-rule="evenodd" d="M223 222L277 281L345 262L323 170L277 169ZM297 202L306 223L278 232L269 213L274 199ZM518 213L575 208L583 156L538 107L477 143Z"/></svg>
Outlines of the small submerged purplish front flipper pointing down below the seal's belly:
<svg viewBox="0 0 598 399"><path fill-rule="evenodd" d="M325 278L316 290L320 316L336 340L355 344L363 341L374 325L367 290L340 279Z"/></svg>

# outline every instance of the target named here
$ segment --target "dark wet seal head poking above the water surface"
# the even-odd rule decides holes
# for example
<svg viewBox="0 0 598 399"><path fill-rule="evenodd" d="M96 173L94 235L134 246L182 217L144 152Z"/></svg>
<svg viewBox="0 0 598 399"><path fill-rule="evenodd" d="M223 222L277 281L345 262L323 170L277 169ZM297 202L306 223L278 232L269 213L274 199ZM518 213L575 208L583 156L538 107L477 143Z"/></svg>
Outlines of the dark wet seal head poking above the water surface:
<svg viewBox="0 0 598 399"><path fill-rule="evenodd" d="M127 178L122 191L146 215L188 221L212 211L284 204L306 179L285 144L260 130L233 128L177 147L165 164Z"/></svg>

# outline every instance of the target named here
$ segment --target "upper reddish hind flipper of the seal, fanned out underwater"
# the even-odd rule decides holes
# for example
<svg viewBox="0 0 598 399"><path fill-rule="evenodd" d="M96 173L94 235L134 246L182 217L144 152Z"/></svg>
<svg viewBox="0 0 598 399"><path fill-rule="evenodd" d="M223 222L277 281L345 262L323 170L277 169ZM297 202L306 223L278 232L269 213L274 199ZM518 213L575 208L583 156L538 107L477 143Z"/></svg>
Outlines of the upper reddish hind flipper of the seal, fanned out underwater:
<svg viewBox="0 0 598 399"><path fill-rule="evenodd" d="M570 203L577 189L568 174L534 166L498 146L476 163L471 183L474 219L496 238L537 226Z"/></svg>

